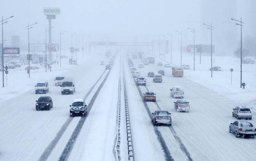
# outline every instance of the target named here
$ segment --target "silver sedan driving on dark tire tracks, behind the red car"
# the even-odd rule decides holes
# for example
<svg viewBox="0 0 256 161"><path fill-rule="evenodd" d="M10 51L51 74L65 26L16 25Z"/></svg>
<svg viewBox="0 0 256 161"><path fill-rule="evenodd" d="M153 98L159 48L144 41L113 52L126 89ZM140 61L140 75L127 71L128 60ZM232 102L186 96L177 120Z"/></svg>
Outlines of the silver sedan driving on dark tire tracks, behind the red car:
<svg viewBox="0 0 256 161"><path fill-rule="evenodd" d="M151 113L152 123L157 124L167 124L172 125L171 113L165 110L156 110L154 113Z"/></svg>

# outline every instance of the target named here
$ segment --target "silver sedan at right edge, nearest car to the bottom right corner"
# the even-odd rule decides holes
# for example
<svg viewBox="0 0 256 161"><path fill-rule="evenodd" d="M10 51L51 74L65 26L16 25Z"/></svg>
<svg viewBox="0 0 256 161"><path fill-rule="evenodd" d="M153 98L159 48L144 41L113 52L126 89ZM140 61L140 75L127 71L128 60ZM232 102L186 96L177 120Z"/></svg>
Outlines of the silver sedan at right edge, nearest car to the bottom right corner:
<svg viewBox="0 0 256 161"><path fill-rule="evenodd" d="M256 128L246 120L237 120L229 125L229 132L234 133L236 137L240 136L256 136Z"/></svg>

